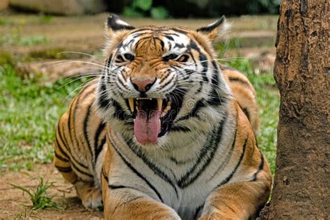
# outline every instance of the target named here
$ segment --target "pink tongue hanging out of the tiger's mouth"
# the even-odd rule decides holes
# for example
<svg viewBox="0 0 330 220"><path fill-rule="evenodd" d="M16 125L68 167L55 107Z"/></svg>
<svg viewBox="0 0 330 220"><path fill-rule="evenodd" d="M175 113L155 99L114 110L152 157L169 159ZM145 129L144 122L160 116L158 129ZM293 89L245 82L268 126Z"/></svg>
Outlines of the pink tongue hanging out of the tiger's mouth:
<svg viewBox="0 0 330 220"><path fill-rule="evenodd" d="M134 135L139 143L156 143L159 129L161 111L139 110L134 120Z"/></svg>

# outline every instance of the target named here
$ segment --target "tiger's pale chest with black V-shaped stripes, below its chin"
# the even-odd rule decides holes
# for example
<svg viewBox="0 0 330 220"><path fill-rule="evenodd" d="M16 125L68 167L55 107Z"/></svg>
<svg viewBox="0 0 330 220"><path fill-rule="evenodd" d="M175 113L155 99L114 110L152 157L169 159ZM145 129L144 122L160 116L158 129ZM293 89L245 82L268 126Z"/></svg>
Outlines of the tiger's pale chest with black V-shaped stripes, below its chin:
<svg viewBox="0 0 330 220"><path fill-rule="evenodd" d="M143 191L150 197L172 207L182 219L196 219L207 196L217 187L217 173L222 150L186 160L162 157L156 162L132 150L117 149L111 165L109 184L125 185Z"/></svg>

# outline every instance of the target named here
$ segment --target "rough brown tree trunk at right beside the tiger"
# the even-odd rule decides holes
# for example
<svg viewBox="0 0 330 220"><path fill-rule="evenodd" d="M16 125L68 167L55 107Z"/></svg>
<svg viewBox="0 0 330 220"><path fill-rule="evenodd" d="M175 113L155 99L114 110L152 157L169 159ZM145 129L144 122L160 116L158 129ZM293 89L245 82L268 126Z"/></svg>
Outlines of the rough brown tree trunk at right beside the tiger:
<svg viewBox="0 0 330 220"><path fill-rule="evenodd" d="M272 201L262 219L328 219L329 0L283 0L274 77L281 93Z"/></svg>

